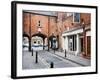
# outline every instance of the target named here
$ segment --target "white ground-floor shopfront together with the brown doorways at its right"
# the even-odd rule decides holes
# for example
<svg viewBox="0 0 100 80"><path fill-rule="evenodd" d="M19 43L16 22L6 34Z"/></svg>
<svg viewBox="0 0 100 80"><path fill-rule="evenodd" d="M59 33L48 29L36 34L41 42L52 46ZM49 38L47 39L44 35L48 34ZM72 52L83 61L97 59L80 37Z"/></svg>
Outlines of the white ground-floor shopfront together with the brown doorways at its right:
<svg viewBox="0 0 100 80"><path fill-rule="evenodd" d="M63 50L66 50L75 55L84 54L91 56L91 31L90 29L84 31L82 28L67 31L62 34Z"/></svg>

